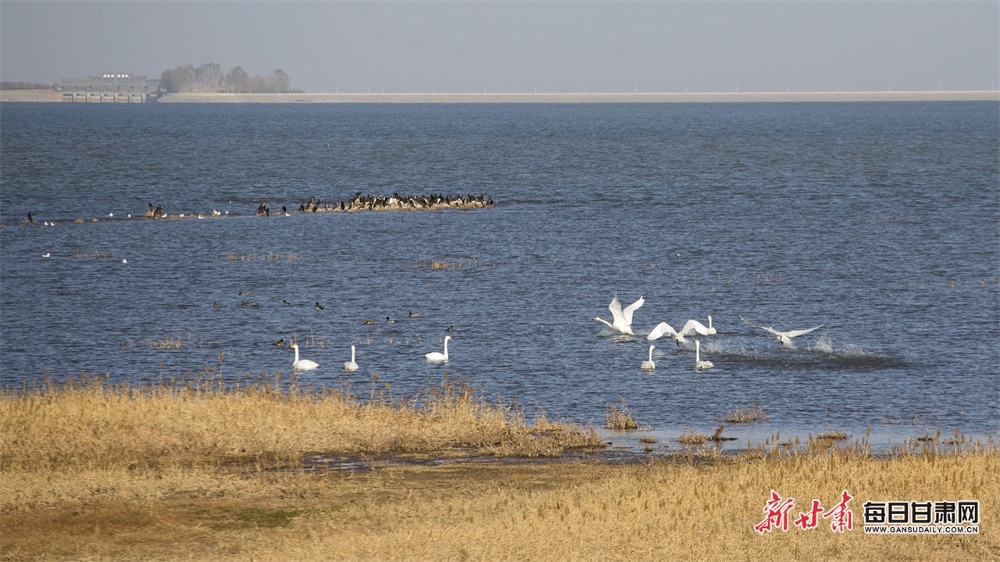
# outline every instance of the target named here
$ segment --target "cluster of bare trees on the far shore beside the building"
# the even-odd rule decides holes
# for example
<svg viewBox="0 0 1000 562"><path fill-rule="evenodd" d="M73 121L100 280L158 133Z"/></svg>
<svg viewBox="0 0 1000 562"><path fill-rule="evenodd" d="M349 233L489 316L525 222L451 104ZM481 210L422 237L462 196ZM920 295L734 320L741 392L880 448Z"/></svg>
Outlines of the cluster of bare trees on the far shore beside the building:
<svg viewBox="0 0 1000 562"><path fill-rule="evenodd" d="M175 93L193 90L234 94L289 93L292 91L292 79L280 68L269 75L251 76L241 66L223 72L222 67L213 62L198 67L185 64L165 70L160 75L160 91Z"/></svg>

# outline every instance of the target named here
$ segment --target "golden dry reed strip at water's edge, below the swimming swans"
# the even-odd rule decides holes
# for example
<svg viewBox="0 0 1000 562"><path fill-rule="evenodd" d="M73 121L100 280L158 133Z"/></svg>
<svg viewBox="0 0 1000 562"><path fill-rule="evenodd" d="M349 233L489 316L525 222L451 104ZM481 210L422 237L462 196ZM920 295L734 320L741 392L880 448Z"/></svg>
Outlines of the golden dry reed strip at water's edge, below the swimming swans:
<svg viewBox="0 0 1000 562"><path fill-rule="evenodd" d="M281 376L227 386L206 371L184 384L63 385L0 394L0 461L7 470L77 470L251 462L277 467L307 453L382 454L471 449L552 456L603 446L592 429L486 401L445 377L410 399L373 377L367 401L345 390L281 389ZM44 443L44 447L38 444ZM0 500L0 504L3 500Z"/></svg>

